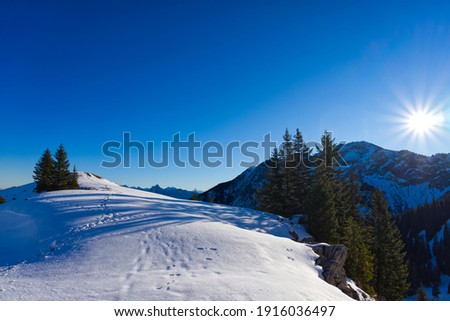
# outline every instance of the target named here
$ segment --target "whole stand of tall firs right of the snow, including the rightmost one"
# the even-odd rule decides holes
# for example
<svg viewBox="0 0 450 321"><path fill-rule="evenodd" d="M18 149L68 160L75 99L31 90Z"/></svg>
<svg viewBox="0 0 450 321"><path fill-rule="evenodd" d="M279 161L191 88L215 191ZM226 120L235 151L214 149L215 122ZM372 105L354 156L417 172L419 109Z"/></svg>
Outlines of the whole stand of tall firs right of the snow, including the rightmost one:
<svg viewBox="0 0 450 321"><path fill-rule="evenodd" d="M404 244L384 195L375 190L370 204L363 204L356 176L340 175L330 133L316 148L314 160L301 132L292 136L286 129L280 148L266 162L258 208L288 217L304 214L302 223L317 241L348 248L345 269L361 288L379 299L403 299L409 288Z"/></svg>

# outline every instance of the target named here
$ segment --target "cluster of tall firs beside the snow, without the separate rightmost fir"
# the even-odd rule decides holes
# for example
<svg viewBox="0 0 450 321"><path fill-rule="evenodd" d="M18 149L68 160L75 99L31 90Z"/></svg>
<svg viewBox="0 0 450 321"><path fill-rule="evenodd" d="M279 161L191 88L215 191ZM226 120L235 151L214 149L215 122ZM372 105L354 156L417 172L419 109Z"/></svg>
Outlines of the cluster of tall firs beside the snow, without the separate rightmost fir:
<svg viewBox="0 0 450 321"><path fill-rule="evenodd" d="M321 156L317 162L310 161L311 150L301 132L297 129L292 137L286 129L280 152L275 149L266 161L269 170L256 196L258 208L283 216L305 214L303 223L317 241L347 247L347 275L373 294L374 257L361 217L359 183L355 176L348 181L339 178L333 164L336 144L328 132L318 149Z"/></svg>

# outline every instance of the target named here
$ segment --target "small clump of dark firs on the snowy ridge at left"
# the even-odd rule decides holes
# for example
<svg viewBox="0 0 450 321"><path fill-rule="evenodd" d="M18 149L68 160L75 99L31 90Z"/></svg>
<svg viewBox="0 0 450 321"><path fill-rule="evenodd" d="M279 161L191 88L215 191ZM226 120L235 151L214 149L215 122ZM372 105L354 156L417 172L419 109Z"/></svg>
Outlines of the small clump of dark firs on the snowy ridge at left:
<svg viewBox="0 0 450 321"><path fill-rule="evenodd" d="M70 171L70 162L64 146L59 145L53 158L47 148L34 167L35 191L48 192L64 189L79 189L76 167Z"/></svg>

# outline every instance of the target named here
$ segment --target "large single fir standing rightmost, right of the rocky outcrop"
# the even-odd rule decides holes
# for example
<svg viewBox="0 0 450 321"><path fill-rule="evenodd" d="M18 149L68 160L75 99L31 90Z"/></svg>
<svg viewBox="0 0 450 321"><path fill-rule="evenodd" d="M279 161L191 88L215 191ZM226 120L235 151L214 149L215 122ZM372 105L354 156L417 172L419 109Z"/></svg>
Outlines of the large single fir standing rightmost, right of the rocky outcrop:
<svg viewBox="0 0 450 321"><path fill-rule="evenodd" d="M376 189L368 216L370 246L374 254L373 286L380 297L402 300L408 290L404 244L382 192Z"/></svg>

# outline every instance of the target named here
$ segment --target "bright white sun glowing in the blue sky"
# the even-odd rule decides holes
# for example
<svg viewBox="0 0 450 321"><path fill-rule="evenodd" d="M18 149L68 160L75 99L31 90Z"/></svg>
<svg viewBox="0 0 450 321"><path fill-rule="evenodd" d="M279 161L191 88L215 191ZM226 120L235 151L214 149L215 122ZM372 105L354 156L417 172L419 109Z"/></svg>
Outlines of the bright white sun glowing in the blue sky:
<svg viewBox="0 0 450 321"><path fill-rule="evenodd" d="M442 126L444 117L432 111L413 110L409 112L405 122L410 131L422 136L437 131Z"/></svg>

